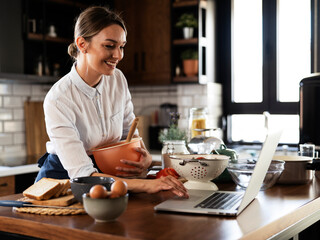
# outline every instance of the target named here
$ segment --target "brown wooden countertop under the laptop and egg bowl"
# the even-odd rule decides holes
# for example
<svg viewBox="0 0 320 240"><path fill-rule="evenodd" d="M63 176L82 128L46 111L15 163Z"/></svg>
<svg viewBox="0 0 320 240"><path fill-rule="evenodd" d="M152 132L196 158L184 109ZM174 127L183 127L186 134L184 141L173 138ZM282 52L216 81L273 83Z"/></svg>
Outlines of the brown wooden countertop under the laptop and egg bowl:
<svg viewBox="0 0 320 240"><path fill-rule="evenodd" d="M221 190L234 184L218 184ZM290 238L320 219L320 181L275 185L260 191L238 217L155 212L169 192L130 194L115 222L95 223L88 215L43 216L0 207L0 231L46 239L267 239ZM10 195L0 199L17 199Z"/></svg>

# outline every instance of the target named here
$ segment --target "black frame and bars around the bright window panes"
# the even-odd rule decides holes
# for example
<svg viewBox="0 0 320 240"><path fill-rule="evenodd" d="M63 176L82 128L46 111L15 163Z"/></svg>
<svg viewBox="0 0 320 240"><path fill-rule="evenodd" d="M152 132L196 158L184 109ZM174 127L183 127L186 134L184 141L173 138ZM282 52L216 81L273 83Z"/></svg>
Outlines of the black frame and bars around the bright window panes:
<svg viewBox="0 0 320 240"><path fill-rule="evenodd" d="M311 73L320 69L317 26L319 0L311 1ZM217 0L217 79L223 85L224 141L230 141L228 116L232 114L299 114L299 102L277 101L277 0L263 0L263 101L232 102L232 0ZM307 76L306 76L307 77ZM226 127L228 125L228 128Z"/></svg>

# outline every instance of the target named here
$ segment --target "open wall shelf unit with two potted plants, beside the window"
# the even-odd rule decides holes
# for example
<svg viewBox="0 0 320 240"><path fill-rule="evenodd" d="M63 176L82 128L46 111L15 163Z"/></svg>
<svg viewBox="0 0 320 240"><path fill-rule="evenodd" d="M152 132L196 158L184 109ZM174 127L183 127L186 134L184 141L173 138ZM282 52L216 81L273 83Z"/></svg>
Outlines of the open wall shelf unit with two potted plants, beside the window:
<svg viewBox="0 0 320 240"><path fill-rule="evenodd" d="M175 25L184 13L193 14L198 19L198 28L192 38L185 39L182 29ZM172 2L172 79L174 83L215 82L215 4L213 0L175 0ZM198 51L198 74L187 77L183 73L181 53L186 49ZM180 73L176 68L181 69Z"/></svg>

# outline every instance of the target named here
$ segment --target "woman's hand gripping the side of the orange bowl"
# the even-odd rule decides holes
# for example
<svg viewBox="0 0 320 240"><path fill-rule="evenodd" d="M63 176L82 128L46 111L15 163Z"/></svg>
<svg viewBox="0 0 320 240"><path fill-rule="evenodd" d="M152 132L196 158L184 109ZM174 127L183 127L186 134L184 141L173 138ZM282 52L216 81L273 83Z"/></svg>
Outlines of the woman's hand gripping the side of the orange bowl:
<svg viewBox="0 0 320 240"><path fill-rule="evenodd" d="M121 159L120 162L124 163L128 166L133 166L133 168L125 168L125 167L116 167L118 171L125 172L123 174L119 174L119 177L146 177L147 170L152 163L152 157L150 153L141 147L136 147L135 150L138 153L141 153L140 159L138 162L130 161L126 159Z"/></svg>

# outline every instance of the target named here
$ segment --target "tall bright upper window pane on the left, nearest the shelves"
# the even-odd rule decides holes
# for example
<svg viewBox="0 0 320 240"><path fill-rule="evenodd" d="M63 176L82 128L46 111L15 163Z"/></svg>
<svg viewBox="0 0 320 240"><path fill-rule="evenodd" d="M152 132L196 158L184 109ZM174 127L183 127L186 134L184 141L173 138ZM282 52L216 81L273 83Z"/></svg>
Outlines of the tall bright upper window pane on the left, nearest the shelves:
<svg viewBox="0 0 320 240"><path fill-rule="evenodd" d="M233 101L262 102L262 1L233 0L233 10Z"/></svg>

